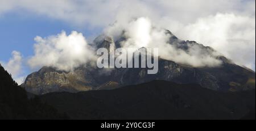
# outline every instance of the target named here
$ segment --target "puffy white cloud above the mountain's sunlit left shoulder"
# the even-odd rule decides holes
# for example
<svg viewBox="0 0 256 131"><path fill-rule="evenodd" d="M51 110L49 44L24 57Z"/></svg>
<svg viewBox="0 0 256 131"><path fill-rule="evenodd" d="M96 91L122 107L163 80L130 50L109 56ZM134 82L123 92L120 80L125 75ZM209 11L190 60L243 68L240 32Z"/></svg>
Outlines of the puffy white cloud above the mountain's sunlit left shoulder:
<svg viewBox="0 0 256 131"><path fill-rule="evenodd" d="M31 68L48 66L72 71L94 58L93 49L88 46L85 37L76 31L68 36L64 31L47 38L37 36L35 41L35 55L28 59Z"/></svg>

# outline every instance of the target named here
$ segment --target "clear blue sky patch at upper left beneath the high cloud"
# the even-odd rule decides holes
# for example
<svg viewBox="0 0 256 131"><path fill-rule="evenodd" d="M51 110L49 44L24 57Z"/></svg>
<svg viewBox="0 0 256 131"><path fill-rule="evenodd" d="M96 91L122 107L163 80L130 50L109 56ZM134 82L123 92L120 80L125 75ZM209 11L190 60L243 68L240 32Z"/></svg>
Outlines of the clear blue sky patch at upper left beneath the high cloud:
<svg viewBox="0 0 256 131"><path fill-rule="evenodd" d="M100 33L100 29L97 28L75 27L65 21L44 16L20 15L15 12L2 15L0 17L0 60L8 61L13 50L20 51L24 57L31 56L34 53L33 45L36 36L56 35L61 30L65 30L68 34L72 30L77 30L85 37L93 37Z"/></svg>

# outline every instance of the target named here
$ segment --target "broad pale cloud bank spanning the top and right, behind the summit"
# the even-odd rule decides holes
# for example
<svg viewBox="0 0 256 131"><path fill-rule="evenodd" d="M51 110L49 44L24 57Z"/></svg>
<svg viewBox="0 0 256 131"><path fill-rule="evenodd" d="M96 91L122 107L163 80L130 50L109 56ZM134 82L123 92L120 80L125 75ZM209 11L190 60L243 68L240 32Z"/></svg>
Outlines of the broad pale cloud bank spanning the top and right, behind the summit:
<svg viewBox="0 0 256 131"><path fill-rule="evenodd" d="M1 0L0 15L6 12L31 12L91 28L145 17L156 27L213 46L235 63L255 70L255 0Z"/></svg>

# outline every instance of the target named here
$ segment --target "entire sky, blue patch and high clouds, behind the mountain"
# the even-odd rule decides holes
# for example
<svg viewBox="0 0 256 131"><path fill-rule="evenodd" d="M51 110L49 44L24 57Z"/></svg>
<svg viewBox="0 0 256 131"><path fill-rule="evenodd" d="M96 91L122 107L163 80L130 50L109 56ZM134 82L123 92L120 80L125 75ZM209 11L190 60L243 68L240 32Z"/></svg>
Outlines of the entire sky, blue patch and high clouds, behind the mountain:
<svg viewBox="0 0 256 131"><path fill-rule="evenodd" d="M27 62L34 56L36 36L56 36L61 30L69 36L76 30L92 41L110 24L140 17L255 71L255 0L1 0L0 62L21 80L36 71Z"/></svg>

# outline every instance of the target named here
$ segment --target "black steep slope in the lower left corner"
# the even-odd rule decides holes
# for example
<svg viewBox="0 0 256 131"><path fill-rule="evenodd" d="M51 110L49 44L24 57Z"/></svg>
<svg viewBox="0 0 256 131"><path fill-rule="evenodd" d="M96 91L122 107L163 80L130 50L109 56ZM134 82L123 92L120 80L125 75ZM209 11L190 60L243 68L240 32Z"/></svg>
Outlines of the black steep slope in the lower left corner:
<svg viewBox="0 0 256 131"><path fill-rule="evenodd" d="M27 93L0 65L0 119L68 119L55 108L42 103L38 97L27 98Z"/></svg>

